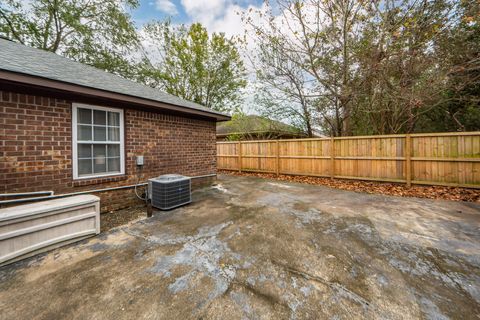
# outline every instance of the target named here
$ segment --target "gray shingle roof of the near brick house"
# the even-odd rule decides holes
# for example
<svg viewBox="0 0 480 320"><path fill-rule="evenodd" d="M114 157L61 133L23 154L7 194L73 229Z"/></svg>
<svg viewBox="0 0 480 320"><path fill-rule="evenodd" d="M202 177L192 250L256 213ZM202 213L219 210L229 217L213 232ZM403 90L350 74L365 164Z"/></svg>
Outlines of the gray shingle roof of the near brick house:
<svg viewBox="0 0 480 320"><path fill-rule="evenodd" d="M0 39L0 70L180 106L187 109L185 112L188 112L188 109L194 109L214 115L228 116L158 89L72 61L55 53L31 48L5 39Z"/></svg>

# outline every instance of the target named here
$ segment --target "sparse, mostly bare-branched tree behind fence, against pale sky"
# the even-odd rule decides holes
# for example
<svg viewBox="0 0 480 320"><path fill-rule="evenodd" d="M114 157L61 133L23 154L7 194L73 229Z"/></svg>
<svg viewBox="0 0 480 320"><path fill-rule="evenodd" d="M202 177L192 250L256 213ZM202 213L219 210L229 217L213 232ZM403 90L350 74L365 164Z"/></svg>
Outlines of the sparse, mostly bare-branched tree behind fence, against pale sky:
<svg viewBox="0 0 480 320"><path fill-rule="evenodd" d="M244 16L257 42L282 39L281 51L306 74L311 98L316 98L318 123L325 131L351 134L351 84L355 79L353 59L364 2L355 0L278 0L281 15L272 10ZM274 49L277 50L277 49Z"/></svg>

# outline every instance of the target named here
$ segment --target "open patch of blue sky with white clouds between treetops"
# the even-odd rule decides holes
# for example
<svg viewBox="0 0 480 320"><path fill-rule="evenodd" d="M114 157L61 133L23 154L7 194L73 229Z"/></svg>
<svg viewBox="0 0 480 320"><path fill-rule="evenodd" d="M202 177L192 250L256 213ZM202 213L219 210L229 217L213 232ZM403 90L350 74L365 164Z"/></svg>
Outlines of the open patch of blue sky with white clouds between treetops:
<svg viewBox="0 0 480 320"><path fill-rule="evenodd" d="M234 36L244 30L237 13L258 9L262 3L262 0L140 0L132 16L138 27L151 20L170 18L174 24L200 22L209 32Z"/></svg>

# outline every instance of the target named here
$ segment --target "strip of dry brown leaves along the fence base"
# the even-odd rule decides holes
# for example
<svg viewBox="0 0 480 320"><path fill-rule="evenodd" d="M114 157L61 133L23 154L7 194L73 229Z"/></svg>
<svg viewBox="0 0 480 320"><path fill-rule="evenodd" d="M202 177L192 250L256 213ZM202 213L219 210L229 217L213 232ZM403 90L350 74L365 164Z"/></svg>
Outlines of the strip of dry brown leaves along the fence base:
<svg viewBox="0 0 480 320"><path fill-rule="evenodd" d="M336 189L350 190L366 193L378 193L400 197L417 197L428 199L442 199L453 201L469 201L480 202L480 190L458 187L443 186L412 186L396 183L370 182L360 180L331 179L321 177L308 176L290 176L275 175L271 173L254 173L254 172L237 172L220 170L219 173L230 174L235 176L251 176L264 179L275 179L281 181L290 181L298 183L308 183L314 185L322 185Z"/></svg>

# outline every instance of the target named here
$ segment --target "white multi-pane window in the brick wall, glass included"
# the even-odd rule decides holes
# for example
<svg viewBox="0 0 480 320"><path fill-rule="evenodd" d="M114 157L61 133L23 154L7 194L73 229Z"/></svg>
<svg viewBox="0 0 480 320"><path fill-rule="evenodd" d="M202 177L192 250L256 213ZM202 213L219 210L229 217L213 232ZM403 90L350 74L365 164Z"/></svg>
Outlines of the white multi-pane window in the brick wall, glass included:
<svg viewBox="0 0 480 320"><path fill-rule="evenodd" d="M73 178L125 173L123 110L75 103Z"/></svg>

